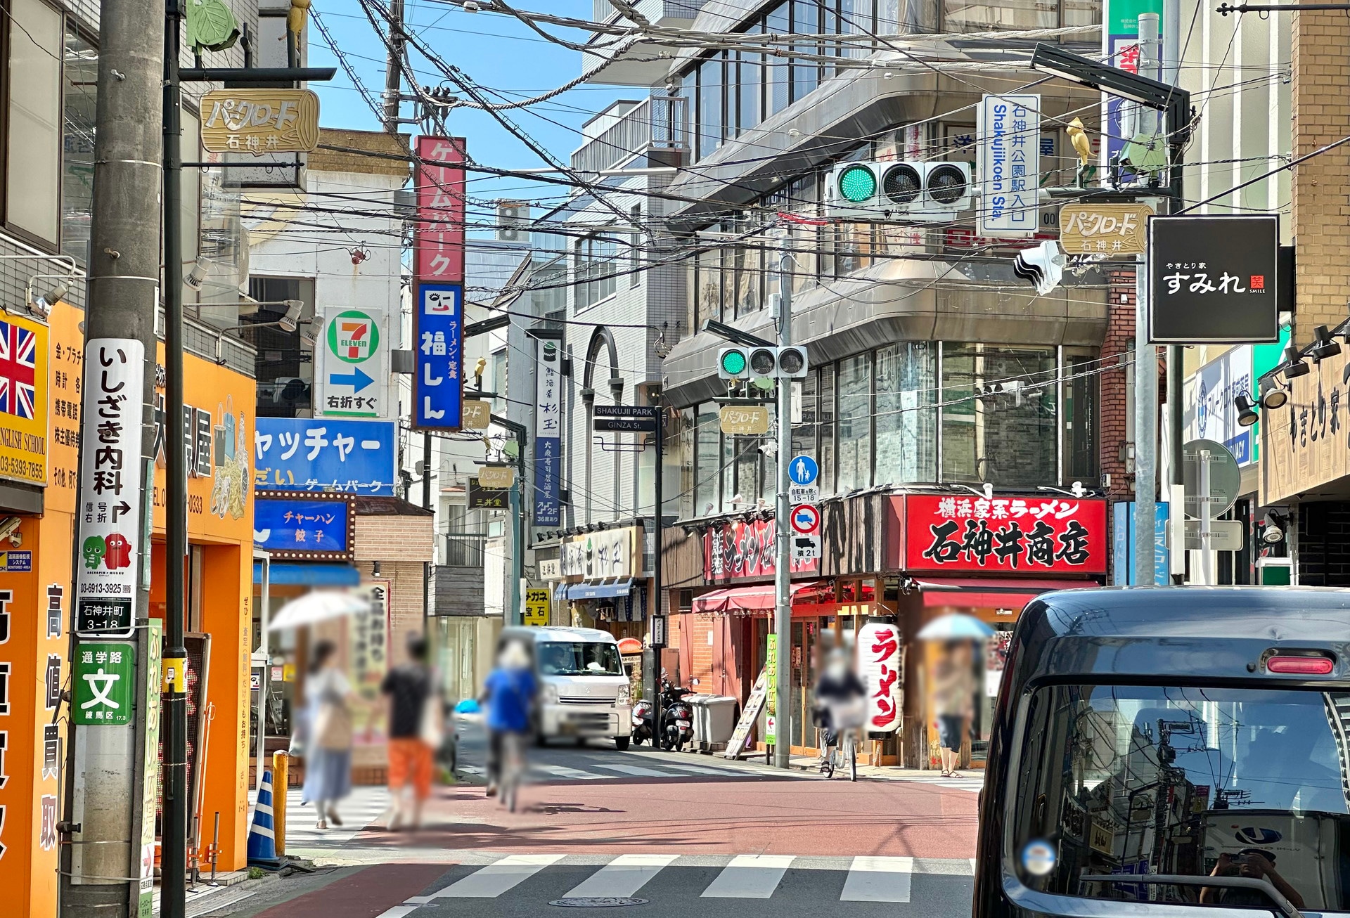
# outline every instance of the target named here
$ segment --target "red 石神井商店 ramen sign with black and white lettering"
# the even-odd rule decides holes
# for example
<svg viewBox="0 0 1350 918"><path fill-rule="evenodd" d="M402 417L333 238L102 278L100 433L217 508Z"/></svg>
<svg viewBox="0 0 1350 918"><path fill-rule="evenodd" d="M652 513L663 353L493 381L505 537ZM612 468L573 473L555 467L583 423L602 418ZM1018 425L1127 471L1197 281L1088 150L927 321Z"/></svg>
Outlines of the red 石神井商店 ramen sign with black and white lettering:
<svg viewBox="0 0 1350 918"><path fill-rule="evenodd" d="M1104 574L1106 501L905 495L911 571Z"/></svg>

